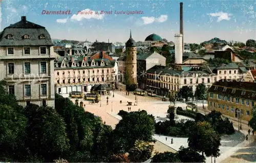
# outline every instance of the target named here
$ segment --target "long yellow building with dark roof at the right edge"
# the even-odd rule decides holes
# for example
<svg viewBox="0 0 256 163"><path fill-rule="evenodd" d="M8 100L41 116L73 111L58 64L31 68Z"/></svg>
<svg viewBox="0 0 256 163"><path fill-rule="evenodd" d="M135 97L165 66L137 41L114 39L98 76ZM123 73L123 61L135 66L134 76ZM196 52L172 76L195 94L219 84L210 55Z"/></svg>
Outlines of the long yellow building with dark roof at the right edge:
<svg viewBox="0 0 256 163"><path fill-rule="evenodd" d="M249 121L256 102L256 83L220 80L208 89L208 110Z"/></svg>

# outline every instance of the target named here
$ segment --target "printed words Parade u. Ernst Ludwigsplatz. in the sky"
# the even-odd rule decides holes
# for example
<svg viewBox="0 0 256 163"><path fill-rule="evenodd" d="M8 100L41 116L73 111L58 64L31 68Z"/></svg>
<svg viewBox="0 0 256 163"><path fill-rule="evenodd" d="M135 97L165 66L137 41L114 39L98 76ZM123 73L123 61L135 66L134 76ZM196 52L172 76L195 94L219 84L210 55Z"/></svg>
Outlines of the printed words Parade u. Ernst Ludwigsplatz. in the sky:
<svg viewBox="0 0 256 163"><path fill-rule="evenodd" d="M133 14L144 14L143 11L141 10L135 10L135 11L117 11L115 10L115 12L111 11L78 11L77 14L84 14L84 15L92 15L92 14L103 14L103 15L111 15L111 14L125 14L125 15L133 15Z"/></svg>

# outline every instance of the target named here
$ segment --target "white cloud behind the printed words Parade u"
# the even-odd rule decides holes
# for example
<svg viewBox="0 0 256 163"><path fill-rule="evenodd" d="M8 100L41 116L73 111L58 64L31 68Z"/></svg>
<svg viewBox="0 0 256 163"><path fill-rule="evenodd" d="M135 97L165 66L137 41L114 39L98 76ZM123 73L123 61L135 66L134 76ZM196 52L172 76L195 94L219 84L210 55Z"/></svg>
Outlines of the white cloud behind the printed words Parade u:
<svg viewBox="0 0 256 163"><path fill-rule="evenodd" d="M82 10L81 13L83 12L90 12L92 14L74 14L71 17L71 20L76 20L76 21L81 21L82 19L103 19L103 14L100 14L100 11L98 11L98 14L95 13L95 11L90 10L90 9L85 9Z"/></svg>

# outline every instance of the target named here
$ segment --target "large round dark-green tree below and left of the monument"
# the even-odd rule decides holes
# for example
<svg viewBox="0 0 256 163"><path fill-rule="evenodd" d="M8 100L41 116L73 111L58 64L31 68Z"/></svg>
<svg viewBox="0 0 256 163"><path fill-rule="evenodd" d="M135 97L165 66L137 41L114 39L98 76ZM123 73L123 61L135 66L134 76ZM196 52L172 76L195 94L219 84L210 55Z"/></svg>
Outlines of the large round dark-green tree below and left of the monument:
<svg viewBox="0 0 256 163"><path fill-rule="evenodd" d="M113 149L116 153L131 149L137 140L153 142L155 120L145 110L129 112L116 125Z"/></svg>

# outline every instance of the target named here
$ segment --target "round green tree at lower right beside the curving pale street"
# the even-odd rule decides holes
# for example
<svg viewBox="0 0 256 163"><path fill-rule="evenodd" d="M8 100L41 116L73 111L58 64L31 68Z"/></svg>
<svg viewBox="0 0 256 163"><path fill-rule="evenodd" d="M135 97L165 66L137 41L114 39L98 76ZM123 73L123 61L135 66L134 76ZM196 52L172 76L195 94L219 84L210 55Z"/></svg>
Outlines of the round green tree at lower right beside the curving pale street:
<svg viewBox="0 0 256 163"><path fill-rule="evenodd" d="M220 146L219 134L208 122L198 122L191 127L188 133L188 146L195 151L202 152L206 156L219 154Z"/></svg>

